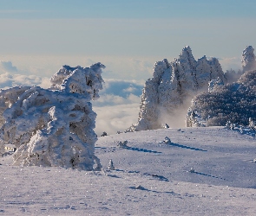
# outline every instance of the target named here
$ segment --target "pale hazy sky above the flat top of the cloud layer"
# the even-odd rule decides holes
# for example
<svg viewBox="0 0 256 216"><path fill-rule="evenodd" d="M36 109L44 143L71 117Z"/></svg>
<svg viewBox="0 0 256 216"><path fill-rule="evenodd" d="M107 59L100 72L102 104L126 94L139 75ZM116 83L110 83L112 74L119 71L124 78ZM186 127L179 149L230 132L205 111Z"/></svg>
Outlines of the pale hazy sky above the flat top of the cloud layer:
<svg viewBox="0 0 256 216"><path fill-rule="evenodd" d="M255 11L252 0L1 0L0 54L239 56L255 45Z"/></svg>

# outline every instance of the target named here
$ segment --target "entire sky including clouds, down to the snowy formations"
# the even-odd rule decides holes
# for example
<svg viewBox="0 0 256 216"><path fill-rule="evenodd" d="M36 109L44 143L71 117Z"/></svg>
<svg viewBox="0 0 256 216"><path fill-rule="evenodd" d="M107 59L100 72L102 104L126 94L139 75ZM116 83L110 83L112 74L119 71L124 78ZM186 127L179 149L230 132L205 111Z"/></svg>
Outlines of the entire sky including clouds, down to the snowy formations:
<svg viewBox="0 0 256 216"><path fill-rule="evenodd" d="M107 96L98 114L114 131L116 116L127 119L124 127L136 122L155 61L173 61L189 45L195 59L238 69L243 49L256 48L255 22L253 0L0 0L0 84L47 86L62 65L101 61ZM104 119L109 101L118 106Z"/></svg>

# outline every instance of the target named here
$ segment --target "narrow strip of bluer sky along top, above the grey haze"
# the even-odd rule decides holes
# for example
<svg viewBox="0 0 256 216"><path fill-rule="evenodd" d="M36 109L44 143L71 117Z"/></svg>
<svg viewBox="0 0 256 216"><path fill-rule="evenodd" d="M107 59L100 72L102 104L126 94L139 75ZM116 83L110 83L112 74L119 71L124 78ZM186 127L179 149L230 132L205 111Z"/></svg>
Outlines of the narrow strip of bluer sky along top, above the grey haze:
<svg viewBox="0 0 256 216"><path fill-rule="evenodd" d="M252 0L1 0L2 18L252 17Z"/></svg>

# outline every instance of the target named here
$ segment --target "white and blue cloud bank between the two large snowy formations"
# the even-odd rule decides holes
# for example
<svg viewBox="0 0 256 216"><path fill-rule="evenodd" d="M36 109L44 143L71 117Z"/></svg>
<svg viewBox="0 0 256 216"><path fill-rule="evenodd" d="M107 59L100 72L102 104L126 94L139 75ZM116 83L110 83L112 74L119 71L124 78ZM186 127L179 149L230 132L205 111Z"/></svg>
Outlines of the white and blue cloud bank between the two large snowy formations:
<svg viewBox="0 0 256 216"><path fill-rule="evenodd" d="M106 79L98 100L93 102L97 113L95 132L115 134L135 124L140 110L143 86L135 80Z"/></svg>

